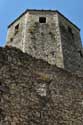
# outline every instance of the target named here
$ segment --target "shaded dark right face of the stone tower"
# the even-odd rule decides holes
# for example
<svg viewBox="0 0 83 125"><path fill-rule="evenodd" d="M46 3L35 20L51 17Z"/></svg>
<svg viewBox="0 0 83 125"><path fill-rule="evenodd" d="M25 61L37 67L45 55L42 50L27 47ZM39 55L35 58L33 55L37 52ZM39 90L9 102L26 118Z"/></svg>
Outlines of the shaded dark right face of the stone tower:
<svg viewBox="0 0 83 125"><path fill-rule="evenodd" d="M61 32L64 68L71 71L83 71L83 52L80 31L63 16L58 15L58 17Z"/></svg>

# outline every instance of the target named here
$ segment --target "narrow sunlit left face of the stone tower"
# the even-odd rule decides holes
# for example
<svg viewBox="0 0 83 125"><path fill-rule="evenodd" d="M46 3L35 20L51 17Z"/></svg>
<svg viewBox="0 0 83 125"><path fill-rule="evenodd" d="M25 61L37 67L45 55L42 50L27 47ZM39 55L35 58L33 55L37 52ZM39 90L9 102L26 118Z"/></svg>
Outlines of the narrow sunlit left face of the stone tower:
<svg viewBox="0 0 83 125"><path fill-rule="evenodd" d="M18 32L15 34L15 26L19 24ZM8 28L7 45L23 50L25 15Z"/></svg>

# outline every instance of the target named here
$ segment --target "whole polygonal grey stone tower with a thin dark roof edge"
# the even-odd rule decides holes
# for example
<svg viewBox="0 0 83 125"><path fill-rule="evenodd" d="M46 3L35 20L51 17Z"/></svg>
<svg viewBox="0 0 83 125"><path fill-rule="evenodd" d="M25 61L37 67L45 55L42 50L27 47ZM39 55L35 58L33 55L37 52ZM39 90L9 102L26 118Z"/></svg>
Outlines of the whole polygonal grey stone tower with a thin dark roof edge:
<svg viewBox="0 0 83 125"><path fill-rule="evenodd" d="M70 71L83 69L80 29L58 11L25 11L8 26L7 45Z"/></svg>

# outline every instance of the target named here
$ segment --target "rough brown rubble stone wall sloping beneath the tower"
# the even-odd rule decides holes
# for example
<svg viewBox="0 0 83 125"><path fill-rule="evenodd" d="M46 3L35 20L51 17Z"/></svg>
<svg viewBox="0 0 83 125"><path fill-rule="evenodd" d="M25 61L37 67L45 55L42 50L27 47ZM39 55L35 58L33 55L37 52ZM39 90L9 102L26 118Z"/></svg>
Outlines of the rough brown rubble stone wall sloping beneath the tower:
<svg viewBox="0 0 83 125"><path fill-rule="evenodd" d="M0 125L82 125L83 77L0 48Z"/></svg>

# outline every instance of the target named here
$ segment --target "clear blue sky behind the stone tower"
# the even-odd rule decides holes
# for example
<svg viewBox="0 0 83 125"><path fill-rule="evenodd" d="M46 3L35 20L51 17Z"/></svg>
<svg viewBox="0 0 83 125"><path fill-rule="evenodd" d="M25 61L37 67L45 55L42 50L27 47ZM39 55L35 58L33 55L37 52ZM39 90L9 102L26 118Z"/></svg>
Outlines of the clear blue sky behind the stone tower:
<svg viewBox="0 0 83 125"><path fill-rule="evenodd" d="M26 9L60 11L81 29L83 41L83 0L0 0L0 46L6 43L7 26Z"/></svg>

